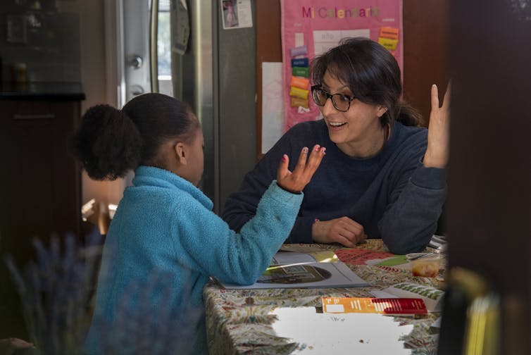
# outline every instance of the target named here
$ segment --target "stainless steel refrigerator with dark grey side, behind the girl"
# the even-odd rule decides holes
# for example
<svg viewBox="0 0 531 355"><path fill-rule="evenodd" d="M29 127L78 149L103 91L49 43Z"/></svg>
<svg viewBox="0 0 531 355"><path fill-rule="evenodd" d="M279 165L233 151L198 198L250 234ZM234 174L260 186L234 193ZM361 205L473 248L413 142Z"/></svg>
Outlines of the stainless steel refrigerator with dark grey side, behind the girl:
<svg viewBox="0 0 531 355"><path fill-rule="evenodd" d="M190 37L185 54L172 57L173 92L203 125L201 189L219 213L256 163L256 35L254 27L224 30L220 0L187 5Z"/></svg>

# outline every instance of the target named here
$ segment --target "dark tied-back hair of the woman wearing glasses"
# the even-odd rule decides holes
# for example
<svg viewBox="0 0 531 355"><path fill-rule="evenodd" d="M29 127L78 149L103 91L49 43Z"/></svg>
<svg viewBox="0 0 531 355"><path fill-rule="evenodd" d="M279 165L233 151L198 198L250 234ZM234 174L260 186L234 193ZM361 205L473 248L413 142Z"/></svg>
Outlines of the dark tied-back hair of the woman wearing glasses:
<svg viewBox="0 0 531 355"><path fill-rule="evenodd" d="M420 125L422 117L401 99L400 67L392 54L371 39L346 38L312 61L312 80L321 85L326 72L349 86L356 99L387 108L380 122Z"/></svg>

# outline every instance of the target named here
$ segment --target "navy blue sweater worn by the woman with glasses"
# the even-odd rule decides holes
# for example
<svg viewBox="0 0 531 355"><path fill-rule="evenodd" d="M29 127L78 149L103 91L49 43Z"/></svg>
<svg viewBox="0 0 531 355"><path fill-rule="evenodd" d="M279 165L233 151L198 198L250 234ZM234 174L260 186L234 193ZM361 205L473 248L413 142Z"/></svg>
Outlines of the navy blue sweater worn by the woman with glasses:
<svg viewBox="0 0 531 355"><path fill-rule="evenodd" d="M311 243L313 220L342 216L363 225L369 238L382 238L390 251L423 249L437 229L446 194L446 170L425 168L427 129L395 122L382 151L370 158L351 158L330 140L324 120L299 123L283 135L246 174L239 190L225 203L222 218L239 230L256 213L263 192L276 178L279 157L288 154L293 170L303 147L326 147L288 243Z"/></svg>

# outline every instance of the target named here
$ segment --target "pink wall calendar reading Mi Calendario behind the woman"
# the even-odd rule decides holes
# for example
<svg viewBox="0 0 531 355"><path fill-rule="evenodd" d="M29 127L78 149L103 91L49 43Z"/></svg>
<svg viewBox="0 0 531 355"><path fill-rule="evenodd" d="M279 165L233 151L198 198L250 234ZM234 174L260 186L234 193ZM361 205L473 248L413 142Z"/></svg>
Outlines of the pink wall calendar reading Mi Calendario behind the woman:
<svg viewBox="0 0 531 355"><path fill-rule="evenodd" d="M368 37L385 46L404 68L402 0L280 0L284 131L320 118L311 99L313 57L344 37Z"/></svg>

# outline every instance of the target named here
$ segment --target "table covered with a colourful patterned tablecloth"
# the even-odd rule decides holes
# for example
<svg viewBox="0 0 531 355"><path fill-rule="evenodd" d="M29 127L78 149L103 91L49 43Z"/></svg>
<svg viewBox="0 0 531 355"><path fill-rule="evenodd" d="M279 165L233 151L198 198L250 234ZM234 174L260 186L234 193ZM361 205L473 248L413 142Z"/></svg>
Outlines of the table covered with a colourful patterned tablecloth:
<svg viewBox="0 0 531 355"><path fill-rule="evenodd" d="M285 244L282 249L292 251L320 251L340 249L333 244ZM381 239L368 239L359 249L387 251ZM427 248L427 251L431 251ZM348 265L348 264L347 264ZM281 337L273 329L277 315L275 310L285 308L315 307L321 305L321 297L373 297L370 291L385 289L399 282L416 282L420 285L437 287L442 281L443 270L437 278L413 277L409 270L385 266L349 265L370 287L334 289L223 289L215 282L209 282L204 289L206 305L206 330L211 354L291 354L308 351L308 344ZM315 313L315 311L313 312ZM376 316L376 315L371 315ZM380 315L377 315L380 316ZM436 354L438 331L430 325L440 313L429 313L423 318L395 317L399 325L409 325L412 330L402 336L408 354ZM380 316L392 318L389 316ZM382 342L386 337L382 335ZM359 340L363 342L363 340ZM333 354L327 352L327 354ZM337 352L339 354L339 352ZM343 353L342 353L343 354Z"/></svg>

